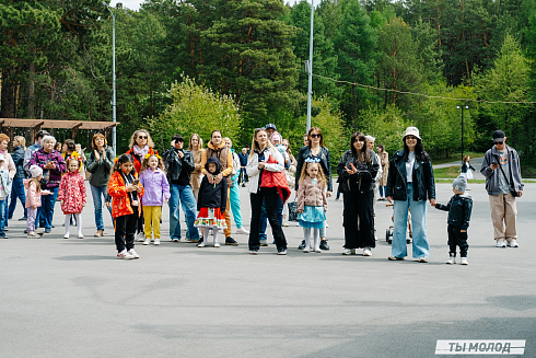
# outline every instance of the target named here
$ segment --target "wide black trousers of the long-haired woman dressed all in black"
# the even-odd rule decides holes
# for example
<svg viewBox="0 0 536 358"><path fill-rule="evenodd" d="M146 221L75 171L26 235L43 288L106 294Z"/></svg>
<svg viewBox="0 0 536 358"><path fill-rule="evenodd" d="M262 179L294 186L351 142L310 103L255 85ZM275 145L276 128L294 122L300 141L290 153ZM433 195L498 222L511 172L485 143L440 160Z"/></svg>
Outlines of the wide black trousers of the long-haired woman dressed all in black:
<svg viewBox="0 0 536 358"><path fill-rule="evenodd" d="M374 239L374 190L368 193L346 192L342 195L345 210L345 249L375 247Z"/></svg>

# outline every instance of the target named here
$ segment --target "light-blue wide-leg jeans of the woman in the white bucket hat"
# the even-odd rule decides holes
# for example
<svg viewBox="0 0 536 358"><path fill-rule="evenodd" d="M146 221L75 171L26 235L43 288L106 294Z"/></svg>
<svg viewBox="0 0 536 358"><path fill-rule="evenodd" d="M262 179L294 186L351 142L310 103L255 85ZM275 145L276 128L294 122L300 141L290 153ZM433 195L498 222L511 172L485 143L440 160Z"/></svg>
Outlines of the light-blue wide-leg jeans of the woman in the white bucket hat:
<svg viewBox="0 0 536 358"><path fill-rule="evenodd" d="M393 246L391 253L396 257L406 257L406 230L408 227L408 208L411 209L411 229L413 232L412 251L415 258L430 255L430 245L427 238L427 201L413 201L413 186L408 183L407 200L394 200Z"/></svg>

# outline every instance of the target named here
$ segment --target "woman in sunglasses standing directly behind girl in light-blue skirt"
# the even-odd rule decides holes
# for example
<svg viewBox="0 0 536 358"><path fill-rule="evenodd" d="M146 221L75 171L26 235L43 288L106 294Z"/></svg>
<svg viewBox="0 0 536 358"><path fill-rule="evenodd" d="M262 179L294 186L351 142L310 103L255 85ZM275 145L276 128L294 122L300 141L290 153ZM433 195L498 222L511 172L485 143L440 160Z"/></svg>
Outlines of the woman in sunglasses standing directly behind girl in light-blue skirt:
<svg viewBox="0 0 536 358"><path fill-rule="evenodd" d="M296 157L296 178L295 178L295 189L298 192L298 182L300 181L300 175L302 173L303 163L305 159L316 159L326 176L327 181L327 197L331 196L333 184L331 184L331 159L329 157L329 150L324 147L324 137L322 136L322 130L318 127L312 127L307 132L308 143L300 149ZM305 140L305 138L304 138ZM302 241L298 249L303 250L305 247L305 240ZM326 227L321 229L321 250L329 250L329 245L326 240Z"/></svg>

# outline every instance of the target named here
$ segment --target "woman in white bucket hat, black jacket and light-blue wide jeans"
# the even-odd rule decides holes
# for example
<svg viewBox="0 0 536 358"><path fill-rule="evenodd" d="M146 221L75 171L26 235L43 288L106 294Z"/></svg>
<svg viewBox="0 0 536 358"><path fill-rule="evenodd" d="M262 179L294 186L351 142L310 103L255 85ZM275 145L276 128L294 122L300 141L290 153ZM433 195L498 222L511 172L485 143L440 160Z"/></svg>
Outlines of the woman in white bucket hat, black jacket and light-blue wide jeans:
<svg viewBox="0 0 536 358"><path fill-rule="evenodd" d="M412 254L419 263L428 263L430 245L427 236L427 199L435 206L435 183L430 157L422 147L417 127L406 128L404 149L397 151L389 164L385 196L394 200L393 246L391 261L408 255L406 229L411 210Z"/></svg>

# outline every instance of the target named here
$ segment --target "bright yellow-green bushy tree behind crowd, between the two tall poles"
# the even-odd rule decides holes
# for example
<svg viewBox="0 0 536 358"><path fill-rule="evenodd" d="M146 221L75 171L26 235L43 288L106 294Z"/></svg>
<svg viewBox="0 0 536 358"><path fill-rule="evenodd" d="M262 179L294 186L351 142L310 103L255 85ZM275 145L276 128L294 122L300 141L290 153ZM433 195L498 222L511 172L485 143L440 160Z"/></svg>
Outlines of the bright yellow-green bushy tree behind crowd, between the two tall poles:
<svg viewBox="0 0 536 358"><path fill-rule="evenodd" d="M172 84L170 96L172 104L160 116L147 119L158 148L167 148L176 132L185 137L185 141L196 132L208 142L214 129L233 141L237 138L241 116L233 97L215 94L188 77Z"/></svg>

